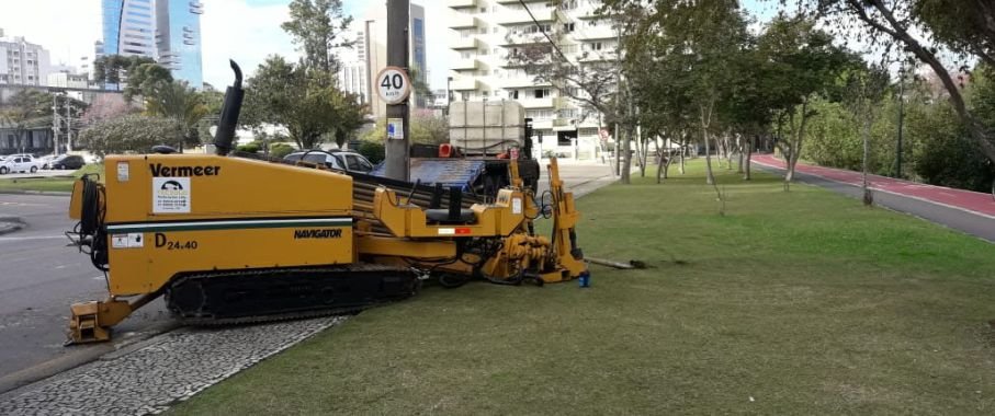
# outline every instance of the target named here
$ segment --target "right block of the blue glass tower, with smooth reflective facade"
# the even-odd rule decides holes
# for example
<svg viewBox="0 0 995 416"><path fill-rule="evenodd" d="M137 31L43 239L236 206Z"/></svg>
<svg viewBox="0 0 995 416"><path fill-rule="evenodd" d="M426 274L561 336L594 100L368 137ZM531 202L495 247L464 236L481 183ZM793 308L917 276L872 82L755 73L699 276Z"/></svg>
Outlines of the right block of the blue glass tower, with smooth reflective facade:
<svg viewBox="0 0 995 416"><path fill-rule="evenodd" d="M204 86L201 69L201 14L199 0L156 0L156 44L159 65L193 88Z"/></svg>

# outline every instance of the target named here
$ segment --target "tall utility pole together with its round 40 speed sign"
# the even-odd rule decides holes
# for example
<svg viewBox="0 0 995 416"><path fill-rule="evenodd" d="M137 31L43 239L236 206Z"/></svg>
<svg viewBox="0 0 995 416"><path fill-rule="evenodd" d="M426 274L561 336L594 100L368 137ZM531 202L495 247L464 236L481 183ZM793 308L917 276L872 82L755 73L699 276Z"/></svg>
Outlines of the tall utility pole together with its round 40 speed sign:
<svg viewBox="0 0 995 416"><path fill-rule="evenodd" d="M393 135L386 139L384 150L384 173L387 177L410 181L410 109L408 96L411 80L408 78L408 25L410 22L408 0L387 0L387 65L377 74L377 93L387 103L388 128ZM392 123L393 120L393 123ZM397 123L399 120L399 123ZM398 126L399 125L399 126ZM398 128L399 127L399 128ZM398 131L399 130L399 131ZM399 132L399 135L398 135Z"/></svg>

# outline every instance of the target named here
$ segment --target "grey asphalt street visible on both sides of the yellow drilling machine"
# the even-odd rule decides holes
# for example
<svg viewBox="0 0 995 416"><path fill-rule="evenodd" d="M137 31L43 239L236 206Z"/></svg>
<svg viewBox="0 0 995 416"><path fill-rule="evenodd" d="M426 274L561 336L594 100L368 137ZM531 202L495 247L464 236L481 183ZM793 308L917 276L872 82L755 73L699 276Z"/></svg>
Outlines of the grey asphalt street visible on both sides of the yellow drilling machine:
<svg viewBox="0 0 995 416"><path fill-rule="evenodd" d="M541 163L541 190L549 185ZM607 165L561 162L561 178L580 197L614 182ZM0 392L23 385L144 339L173 324L161 299L114 328L114 344L64 347L74 302L106 297L103 274L64 235L68 196L0 194L0 218L16 218L20 231L0 235Z"/></svg>

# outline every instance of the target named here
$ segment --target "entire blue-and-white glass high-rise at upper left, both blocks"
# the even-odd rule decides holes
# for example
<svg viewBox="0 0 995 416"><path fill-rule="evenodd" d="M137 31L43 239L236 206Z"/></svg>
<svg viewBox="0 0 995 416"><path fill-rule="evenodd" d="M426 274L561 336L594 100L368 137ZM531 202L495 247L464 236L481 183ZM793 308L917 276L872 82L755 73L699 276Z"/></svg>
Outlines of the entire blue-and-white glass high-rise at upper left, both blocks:
<svg viewBox="0 0 995 416"><path fill-rule="evenodd" d="M102 0L102 55L144 56L168 68L192 86L204 83L201 70L199 0Z"/></svg>

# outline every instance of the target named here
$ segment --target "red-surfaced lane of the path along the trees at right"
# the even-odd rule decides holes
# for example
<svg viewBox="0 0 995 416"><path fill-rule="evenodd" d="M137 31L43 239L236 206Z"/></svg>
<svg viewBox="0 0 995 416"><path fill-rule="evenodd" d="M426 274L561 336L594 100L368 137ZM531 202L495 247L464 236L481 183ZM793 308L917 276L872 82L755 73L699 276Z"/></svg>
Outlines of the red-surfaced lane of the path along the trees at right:
<svg viewBox="0 0 995 416"><path fill-rule="evenodd" d="M785 169L784 161L771 154L755 155L753 163L780 170ZM861 186L863 183L860 172L813 166L801 162L795 166L795 171L852 186ZM895 194L995 219L995 199L990 194L926 185L878 175L868 175L868 184L871 189L878 192Z"/></svg>

